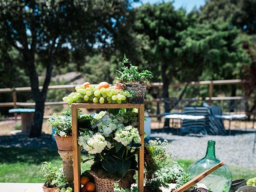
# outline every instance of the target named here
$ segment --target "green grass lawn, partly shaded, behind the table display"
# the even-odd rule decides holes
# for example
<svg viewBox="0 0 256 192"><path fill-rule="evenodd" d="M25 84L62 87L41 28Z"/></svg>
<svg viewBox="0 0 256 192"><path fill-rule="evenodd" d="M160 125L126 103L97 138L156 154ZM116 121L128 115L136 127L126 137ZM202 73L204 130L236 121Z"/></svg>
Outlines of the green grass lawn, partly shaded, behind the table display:
<svg viewBox="0 0 256 192"><path fill-rule="evenodd" d="M62 160L57 150L29 149L29 148L0 148L0 182L37 182L42 183L40 171L44 161L52 162L52 165L60 167ZM192 160L176 160L184 164L184 168L193 162ZM84 164L82 170L89 168ZM255 177L256 170L230 166L233 179Z"/></svg>

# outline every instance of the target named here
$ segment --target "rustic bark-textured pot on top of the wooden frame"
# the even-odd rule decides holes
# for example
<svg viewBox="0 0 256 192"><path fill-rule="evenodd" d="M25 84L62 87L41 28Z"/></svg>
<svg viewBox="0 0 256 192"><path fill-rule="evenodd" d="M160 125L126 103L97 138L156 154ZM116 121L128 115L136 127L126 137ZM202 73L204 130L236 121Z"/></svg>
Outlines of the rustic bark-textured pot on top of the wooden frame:
<svg viewBox="0 0 256 192"><path fill-rule="evenodd" d="M134 92L134 98L129 98L129 103L144 103L146 84L125 84L125 89Z"/></svg>

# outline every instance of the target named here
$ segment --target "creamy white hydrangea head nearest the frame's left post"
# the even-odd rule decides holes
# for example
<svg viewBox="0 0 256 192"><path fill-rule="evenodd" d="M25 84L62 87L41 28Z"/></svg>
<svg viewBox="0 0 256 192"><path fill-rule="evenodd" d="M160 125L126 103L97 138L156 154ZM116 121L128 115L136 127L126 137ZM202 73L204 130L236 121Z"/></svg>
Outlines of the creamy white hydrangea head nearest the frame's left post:
<svg viewBox="0 0 256 192"><path fill-rule="evenodd" d="M87 131L79 136L78 144L84 148L89 154L96 154L102 152L102 150L111 144L107 142L100 133L93 135L92 131Z"/></svg>

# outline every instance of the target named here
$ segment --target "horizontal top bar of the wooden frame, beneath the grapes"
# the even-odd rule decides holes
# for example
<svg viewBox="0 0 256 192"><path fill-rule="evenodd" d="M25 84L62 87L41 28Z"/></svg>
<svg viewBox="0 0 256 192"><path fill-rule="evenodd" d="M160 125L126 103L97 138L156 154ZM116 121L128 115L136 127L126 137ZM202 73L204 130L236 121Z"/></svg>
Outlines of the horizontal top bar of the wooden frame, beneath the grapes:
<svg viewBox="0 0 256 192"><path fill-rule="evenodd" d="M98 103L76 103L76 108L92 108L92 109L118 109L118 108L140 108L141 104L128 104L128 103L122 103L122 104L98 104Z"/></svg>

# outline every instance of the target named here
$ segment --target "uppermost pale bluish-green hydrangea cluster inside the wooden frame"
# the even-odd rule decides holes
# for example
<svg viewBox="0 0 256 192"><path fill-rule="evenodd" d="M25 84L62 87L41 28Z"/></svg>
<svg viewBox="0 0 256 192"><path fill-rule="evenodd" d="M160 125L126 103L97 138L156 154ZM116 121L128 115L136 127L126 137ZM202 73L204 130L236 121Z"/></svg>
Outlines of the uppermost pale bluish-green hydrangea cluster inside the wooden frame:
<svg viewBox="0 0 256 192"><path fill-rule="evenodd" d="M118 128L118 125L124 120L120 116L114 116L113 114L101 111L99 114L94 116L93 128L98 128L98 131L105 137Z"/></svg>

